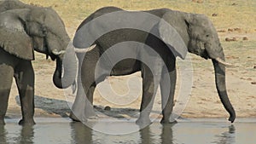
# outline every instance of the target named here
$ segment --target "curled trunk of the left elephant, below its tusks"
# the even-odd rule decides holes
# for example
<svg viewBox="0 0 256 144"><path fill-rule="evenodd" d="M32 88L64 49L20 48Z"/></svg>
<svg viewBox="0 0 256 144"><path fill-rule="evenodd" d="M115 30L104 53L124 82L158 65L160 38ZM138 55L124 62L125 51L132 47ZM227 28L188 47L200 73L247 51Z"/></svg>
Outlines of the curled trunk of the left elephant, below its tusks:
<svg viewBox="0 0 256 144"><path fill-rule="evenodd" d="M62 71L62 66L64 71ZM63 72L63 76L62 76ZM59 89L66 89L75 82L77 74L77 61L73 49L67 48L64 59L56 58L56 68L53 77L55 86Z"/></svg>

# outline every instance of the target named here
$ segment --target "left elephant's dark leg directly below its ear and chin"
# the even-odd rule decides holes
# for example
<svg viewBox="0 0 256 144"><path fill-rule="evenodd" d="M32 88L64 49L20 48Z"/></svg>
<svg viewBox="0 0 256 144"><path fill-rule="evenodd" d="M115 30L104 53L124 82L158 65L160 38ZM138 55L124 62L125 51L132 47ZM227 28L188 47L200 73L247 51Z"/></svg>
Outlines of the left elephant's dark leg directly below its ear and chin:
<svg viewBox="0 0 256 144"><path fill-rule="evenodd" d="M15 80L19 89L22 119L19 124L35 124L34 116L34 71L31 61L20 62L15 71Z"/></svg>

